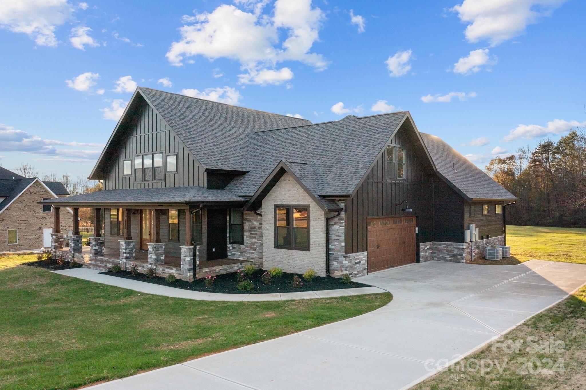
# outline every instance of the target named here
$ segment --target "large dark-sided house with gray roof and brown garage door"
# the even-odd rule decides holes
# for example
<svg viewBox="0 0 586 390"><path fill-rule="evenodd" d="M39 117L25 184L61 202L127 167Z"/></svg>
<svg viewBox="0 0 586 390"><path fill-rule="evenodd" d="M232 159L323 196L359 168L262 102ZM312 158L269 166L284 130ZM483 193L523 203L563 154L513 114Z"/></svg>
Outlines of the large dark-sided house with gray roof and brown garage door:
<svg viewBox="0 0 586 390"><path fill-rule="evenodd" d="M88 266L186 280L246 264L354 277L468 262L504 244L516 200L408 111L312 124L143 87L89 178L104 190L43 202L104 209Z"/></svg>

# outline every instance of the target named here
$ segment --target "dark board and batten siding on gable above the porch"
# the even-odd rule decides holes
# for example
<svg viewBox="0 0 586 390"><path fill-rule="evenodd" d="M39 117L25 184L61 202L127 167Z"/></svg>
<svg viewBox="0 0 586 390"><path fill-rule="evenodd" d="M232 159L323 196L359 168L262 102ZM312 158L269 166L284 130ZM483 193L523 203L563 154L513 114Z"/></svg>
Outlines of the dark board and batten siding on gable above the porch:
<svg viewBox="0 0 586 390"><path fill-rule="evenodd" d="M175 132L158 115L151 105L143 101L134 115L132 124L127 125L122 141L111 163L104 172L104 189L135 189L158 187L205 186L203 167L193 157ZM134 156L163 152L163 180L135 182ZM166 155L177 155L177 172L166 172ZM122 161L132 161L132 175L122 175Z"/></svg>

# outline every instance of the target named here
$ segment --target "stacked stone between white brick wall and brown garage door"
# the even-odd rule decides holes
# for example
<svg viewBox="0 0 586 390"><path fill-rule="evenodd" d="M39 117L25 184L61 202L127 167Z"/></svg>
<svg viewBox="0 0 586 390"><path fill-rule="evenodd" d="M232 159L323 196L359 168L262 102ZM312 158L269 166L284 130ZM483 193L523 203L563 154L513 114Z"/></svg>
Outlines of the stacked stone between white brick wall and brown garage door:
<svg viewBox="0 0 586 390"><path fill-rule="evenodd" d="M344 202L338 201L342 209ZM335 214L334 214L335 215ZM352 278L366 275L367 252L345 254L345 223L344 211L328 222L329 228L329 272L331 276L340 278L347 274Z"/></svg>

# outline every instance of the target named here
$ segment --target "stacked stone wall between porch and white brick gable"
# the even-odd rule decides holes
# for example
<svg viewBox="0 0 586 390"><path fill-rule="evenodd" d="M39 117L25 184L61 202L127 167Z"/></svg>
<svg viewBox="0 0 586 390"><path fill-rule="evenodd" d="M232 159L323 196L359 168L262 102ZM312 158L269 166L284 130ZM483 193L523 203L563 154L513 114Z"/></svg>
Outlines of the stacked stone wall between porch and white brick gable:
<svg viewBox="0 0 586 390"><path fill-rule="evenodd" d="M228 244L228 257L248 260L259 269L263 268L263 217L252 211L244 211L244 244ZM230 232L228 241L230 242Z"/></svg>

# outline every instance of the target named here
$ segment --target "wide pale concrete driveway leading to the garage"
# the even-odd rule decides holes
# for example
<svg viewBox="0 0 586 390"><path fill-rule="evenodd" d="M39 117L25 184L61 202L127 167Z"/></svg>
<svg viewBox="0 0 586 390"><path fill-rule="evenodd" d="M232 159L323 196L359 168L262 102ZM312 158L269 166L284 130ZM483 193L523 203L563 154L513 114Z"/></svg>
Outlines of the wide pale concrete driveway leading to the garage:
<svg viewBox="0 0 586 390"><path fill-rule="evenodd" d="M559 302L586 282L586 265L431 261L357 280L389 290L393 302L352 319L98 386L408 388Z"/></svg>

